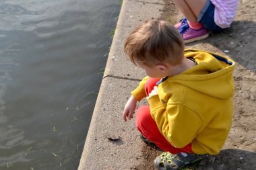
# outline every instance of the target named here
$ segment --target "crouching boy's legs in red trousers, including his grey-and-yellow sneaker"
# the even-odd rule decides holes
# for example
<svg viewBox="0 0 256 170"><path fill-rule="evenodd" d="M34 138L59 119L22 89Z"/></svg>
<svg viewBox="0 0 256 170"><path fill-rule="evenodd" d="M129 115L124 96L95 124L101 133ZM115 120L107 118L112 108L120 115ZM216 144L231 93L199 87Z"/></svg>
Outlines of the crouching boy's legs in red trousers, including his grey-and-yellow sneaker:
<svg viewBox="0 0 256 170"><path fill-rule="evenodd" d="M160 81L160 79L148 79L145 84L147 96L154 87L157 86L156 83L158 81ZM204 158L201 155L196 155L192 151L191 143L187 144L187 146L183 148L175 148L172 146L172 144L170 144L170 142L168 142L168 140L166 140L166 138L161 134L156 122L153 120L150 114L150 106L143 105L139 107L136 112L135 122L137 129L145 138L154 142L156 146L165 151L154 160L154 165L158 167L158 169L163 169L164 167L169 167L169 169L172 169L172 167L173 169L178 169L179 167L185 166L187 163L200 161Z"/></svg>

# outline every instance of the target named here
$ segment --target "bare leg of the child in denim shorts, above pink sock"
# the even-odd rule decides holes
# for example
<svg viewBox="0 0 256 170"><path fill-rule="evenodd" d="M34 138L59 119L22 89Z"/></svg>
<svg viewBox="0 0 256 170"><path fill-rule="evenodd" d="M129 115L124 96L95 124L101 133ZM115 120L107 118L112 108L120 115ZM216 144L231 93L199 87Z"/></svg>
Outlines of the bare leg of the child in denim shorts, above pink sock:
<svg viewBox="0 0 256 170"><path fill-rule="evenodd" d="M172 0L189 22L197 22L197 16L206 0Z"/></svg>

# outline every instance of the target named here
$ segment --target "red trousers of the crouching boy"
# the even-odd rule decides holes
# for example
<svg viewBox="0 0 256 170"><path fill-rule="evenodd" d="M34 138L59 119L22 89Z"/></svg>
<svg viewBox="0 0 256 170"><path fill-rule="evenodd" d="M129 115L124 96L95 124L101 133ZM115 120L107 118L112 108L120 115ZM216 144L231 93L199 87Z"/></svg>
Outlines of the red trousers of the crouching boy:
<svg viewBox="0 0 256 170"><path fill-rule="evenodd" d="M154 89L156 86L156 82L160 79L148 79L145 85L145 91L148 94ZM139 107L136 112L136 126L139 132L143 134L148 140L154 142L159 148L163 151L168 151L172 154L176 153L194 153L191 149L191 143L185 146L184 148L175 148L164 138L161 132L158 130L158 126L156 126L156 122L153 120L150 114L150 107L148 105L143 105Z"/></svg>

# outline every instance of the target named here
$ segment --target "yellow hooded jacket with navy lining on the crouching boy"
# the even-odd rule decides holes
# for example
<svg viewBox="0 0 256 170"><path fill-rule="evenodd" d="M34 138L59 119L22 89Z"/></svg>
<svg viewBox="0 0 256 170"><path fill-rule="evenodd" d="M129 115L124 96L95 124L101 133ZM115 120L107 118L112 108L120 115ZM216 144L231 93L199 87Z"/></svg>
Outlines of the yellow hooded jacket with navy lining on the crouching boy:
<svg viewBox="0 0 256 170"><path fill-rule="evenodd" d="M163 136L176 148L192 144L197 154L220 152L231 128L234 61L213 52L187 49L197 65L166 77L158 95L148 99L150 112ZM145 77L131 94L146 97Z"/></svg>

